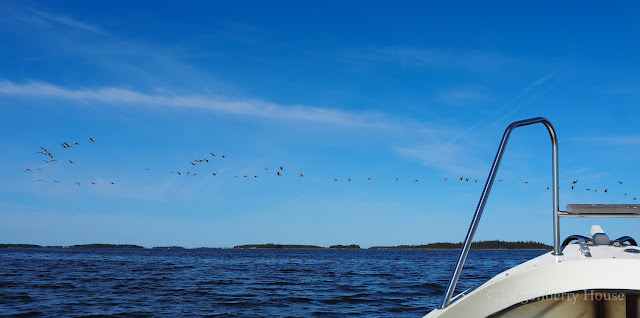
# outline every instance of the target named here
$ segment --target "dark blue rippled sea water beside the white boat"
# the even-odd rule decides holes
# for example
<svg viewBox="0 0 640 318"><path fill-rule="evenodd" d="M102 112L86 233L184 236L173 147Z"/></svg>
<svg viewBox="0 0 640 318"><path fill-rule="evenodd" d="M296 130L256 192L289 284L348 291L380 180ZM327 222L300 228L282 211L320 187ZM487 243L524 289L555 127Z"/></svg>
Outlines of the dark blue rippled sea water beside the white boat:
<svg viewBox="0 0 640 318"><path fill-rule="evenodd" d="M457 290L543 251L471 251ZM0 249L3 317L421 317L458 251Z"/></svg>

